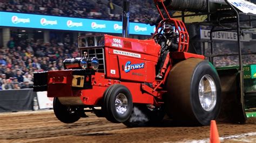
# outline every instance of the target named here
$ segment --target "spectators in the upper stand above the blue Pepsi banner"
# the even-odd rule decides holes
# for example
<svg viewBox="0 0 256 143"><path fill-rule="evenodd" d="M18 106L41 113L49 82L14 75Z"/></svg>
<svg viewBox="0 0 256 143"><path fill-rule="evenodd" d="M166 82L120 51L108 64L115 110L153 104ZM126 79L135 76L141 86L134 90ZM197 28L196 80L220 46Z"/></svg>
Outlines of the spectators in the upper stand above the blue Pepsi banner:
<svg viewBox="0 0 256 143"><path fill-rule="evenodd" d="M0 11L120 21L122 13L114 9L122 5L117 0L0 0ZM131 22L144 22L145 16L158 17L153 1L130 1Z"/></svg>

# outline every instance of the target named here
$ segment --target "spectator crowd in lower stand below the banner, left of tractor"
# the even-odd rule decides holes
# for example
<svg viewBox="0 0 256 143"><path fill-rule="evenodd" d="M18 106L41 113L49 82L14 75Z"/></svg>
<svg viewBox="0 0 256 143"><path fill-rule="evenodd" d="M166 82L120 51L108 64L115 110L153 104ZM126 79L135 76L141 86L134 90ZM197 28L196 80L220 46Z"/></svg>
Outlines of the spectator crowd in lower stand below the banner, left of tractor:
<svg viewBox="0 0 256 143"><path fill-rule="evenodd" d="M1 90L32 88L33 72L64 69L64 59L80 56L77 45L68 42L32 39L15 43L11 38L7 45L0 51Z"/></svg>

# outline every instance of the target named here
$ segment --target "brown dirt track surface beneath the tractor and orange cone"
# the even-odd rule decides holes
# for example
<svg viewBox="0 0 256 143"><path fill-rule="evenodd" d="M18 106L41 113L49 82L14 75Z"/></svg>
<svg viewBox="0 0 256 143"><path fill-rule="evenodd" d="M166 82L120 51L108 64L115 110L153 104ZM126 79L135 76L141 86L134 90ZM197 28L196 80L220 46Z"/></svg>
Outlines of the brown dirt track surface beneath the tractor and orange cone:
<svg viewBox="0 0 256 143"><path fill-rule="evenodd" d="M208 141L210 126L161 126L127 128L87 113L76 123L61 123L52 110L0 114L0 142L191 142ZM256 142L256 121L218 124L221 141Z"/></svg>

